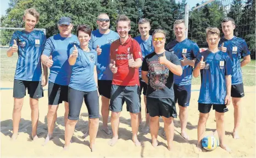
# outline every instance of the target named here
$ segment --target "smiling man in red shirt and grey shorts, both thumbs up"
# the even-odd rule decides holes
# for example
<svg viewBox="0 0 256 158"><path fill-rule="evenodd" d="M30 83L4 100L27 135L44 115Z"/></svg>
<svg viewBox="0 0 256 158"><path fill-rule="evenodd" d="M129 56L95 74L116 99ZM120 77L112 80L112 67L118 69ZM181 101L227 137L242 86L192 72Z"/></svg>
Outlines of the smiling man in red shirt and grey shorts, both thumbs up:
<svg viewBox="0 0 256 158"><path fill-rule="evenodd" d="M126 102L131 115L132 141L140 146L138 141L138 113L140 113L140 80L138 68L142 65L141 48L138 42L129 36L131 30L130 19L125 15L119 15L116 21L116 30L120 38L110 46L109 68L113 72L112 89L110 94L109 109L111 114L111 126L113 138L109 141L114 146L118 141L119 116Z"/></svg>

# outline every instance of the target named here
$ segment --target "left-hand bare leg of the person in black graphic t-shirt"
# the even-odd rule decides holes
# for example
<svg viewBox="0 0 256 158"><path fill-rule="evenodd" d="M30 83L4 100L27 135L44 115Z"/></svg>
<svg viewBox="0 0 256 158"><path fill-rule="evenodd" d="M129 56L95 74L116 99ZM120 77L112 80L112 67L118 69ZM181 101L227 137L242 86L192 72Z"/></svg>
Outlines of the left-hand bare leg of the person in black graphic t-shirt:
<svg viewBox="0 0 256 158"><path fill-rule="evenodd" d="M159 116L154 116L154 117L150 118L149 127L150 127L152 145L153 145L153 147L157 147L157 145L158 145L157 136L158 136L158 130L159 130Z"/></svg>

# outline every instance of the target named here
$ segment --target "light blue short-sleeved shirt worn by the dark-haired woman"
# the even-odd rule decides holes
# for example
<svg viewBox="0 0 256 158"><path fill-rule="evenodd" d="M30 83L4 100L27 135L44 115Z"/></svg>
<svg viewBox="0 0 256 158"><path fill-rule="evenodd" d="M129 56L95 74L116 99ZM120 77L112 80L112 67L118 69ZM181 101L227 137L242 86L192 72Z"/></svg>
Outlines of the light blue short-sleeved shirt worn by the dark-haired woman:
<svg viewBox="0 0 256 158"><path fill-rule="evenodd" d="M75 65L72 66L69 87L84 92L96 91L97 86L94 80L93 68L97 65L97 52L93 49L86 52L80 46L77 45L76 47L78 56ZM70 49L70 54L73 53L73 50L74 47Z"/></svg>

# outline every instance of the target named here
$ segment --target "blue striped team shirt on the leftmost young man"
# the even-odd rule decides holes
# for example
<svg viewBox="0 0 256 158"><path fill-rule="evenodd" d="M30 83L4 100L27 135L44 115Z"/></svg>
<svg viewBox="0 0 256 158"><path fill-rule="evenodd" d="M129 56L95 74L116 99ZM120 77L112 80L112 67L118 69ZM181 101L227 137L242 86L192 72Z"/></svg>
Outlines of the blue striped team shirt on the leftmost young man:
<svg viewBox="0 0 256 158"><path fill-rule="evenodd" d="M13 40L18 45L18 61L14 79L26 81L41 81L41 58L43 46L46 43L46 36L42 31L34 30L32 32L16 31L10 40L13 46Z"/></svg>

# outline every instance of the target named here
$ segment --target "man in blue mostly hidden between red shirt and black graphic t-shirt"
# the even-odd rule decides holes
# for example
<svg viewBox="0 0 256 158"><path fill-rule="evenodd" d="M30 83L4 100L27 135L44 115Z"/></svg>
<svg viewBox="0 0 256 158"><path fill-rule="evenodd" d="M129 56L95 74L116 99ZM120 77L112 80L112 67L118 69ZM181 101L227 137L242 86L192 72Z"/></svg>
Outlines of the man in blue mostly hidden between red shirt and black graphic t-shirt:
<svg viewBox="0 0 256 158"><path fill-rule="evenodd" d="M141 52L142 52L142 60L143 58L154 51L154 46L152 44L152 36L149 35L149 30L151 30L150 22L148 19L141 19L138 21L138 31L140 31L140 36L135 37L134 39L137 40L138 44L141 46ZM147 112L146 108L146 92L148 85L145 83L145 81L141 78L141 67L138 70L139 77L140 77L140 89L142 92L143 89L143 95L144 95L144 104L145 104L145 113L146 113L146 124L142 128L141 132L148 132L149 131L149 114ZM141 100L141 96L140 96ZM142 122L141 112L138 114L138 119L140 122Z"/></svg>

